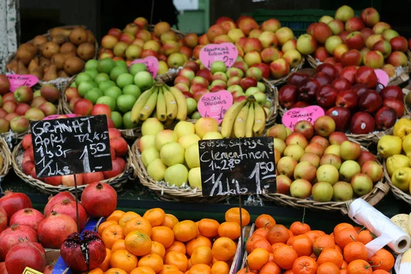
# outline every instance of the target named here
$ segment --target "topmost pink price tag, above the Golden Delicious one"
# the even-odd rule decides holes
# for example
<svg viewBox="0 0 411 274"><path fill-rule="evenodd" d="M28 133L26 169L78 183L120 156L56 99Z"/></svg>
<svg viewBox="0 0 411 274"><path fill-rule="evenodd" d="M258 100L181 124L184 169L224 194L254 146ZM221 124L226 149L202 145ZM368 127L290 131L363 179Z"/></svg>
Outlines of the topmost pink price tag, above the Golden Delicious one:
<svg viewBox="0 0 411 274"><path fill-rule="evenodd" d="M230 68L236 62L237 56L237 47L229 42L206 45L200 51L200 60L207 69L211 68L214 61L223 61L227 68Z"/></svg>

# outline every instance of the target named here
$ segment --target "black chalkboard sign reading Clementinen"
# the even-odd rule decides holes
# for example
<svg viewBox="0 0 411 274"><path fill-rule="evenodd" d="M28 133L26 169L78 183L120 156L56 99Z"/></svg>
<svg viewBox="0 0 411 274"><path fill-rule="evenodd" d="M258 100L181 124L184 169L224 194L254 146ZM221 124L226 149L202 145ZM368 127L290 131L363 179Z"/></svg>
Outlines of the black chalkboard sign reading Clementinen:
<svg viewBox="0 0 411 274"><path fill-rule="evenodd" d="M203 196L276 192L272 137L199 140Z"/></svg>

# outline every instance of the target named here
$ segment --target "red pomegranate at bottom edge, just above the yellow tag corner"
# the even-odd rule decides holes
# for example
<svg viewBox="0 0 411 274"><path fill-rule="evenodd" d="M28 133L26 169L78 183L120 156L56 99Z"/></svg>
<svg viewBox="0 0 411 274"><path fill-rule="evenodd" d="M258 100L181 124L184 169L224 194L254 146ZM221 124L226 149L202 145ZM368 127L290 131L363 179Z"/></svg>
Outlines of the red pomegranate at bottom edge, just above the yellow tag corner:
<svg viewBox="0 0 411 274"><path fill-rule="evenodd" d="M38 242L22 242L10 249L4 262L9 274L21 274L27 266L42 271L46 266L46 251Z"/></svg>

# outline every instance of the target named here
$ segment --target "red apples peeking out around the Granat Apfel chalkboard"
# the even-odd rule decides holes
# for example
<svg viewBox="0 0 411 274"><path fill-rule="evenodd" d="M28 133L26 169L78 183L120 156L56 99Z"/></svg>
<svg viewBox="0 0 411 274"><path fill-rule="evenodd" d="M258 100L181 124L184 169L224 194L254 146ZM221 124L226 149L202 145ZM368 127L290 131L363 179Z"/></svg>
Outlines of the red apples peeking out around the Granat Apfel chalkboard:
<svg viewBox="0 0 411 274"><path fill-rule="evenodd" d="M96 111L95 114L103 114L103 112ZM113 127L108 128L108 136L110 139L110 153L112 156L113 169L111 171L77 174L77 186L87 185L93 182L101 182L104 179L110 179L125 171L126 162L124 157L128 152L127 142L123 137L121 137L121 132L119 132L119 129L115 129ZM21 142L21 145L24 149L21 170L25 173L25 175L32 176L34 179L43 181L51 186L74 186L73 175L37 178L34 165L32 134L26 134Z"/></svg>

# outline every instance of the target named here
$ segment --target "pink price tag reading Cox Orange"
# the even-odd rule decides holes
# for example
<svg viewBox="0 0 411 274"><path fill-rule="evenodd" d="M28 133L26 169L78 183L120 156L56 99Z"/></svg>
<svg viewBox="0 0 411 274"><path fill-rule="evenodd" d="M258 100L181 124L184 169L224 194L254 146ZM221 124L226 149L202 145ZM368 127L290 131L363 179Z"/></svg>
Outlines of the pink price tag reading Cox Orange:
<svg viewBox="0 0 411 274"><path fill-rule="evenodd" d="M314 124L314 121L321 116L324 116L324 110L318 105L310 105L307 108L292 108L284 113L282 123L293 131L297 122L305 120Z"/></svg>

